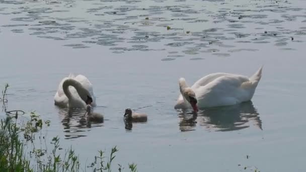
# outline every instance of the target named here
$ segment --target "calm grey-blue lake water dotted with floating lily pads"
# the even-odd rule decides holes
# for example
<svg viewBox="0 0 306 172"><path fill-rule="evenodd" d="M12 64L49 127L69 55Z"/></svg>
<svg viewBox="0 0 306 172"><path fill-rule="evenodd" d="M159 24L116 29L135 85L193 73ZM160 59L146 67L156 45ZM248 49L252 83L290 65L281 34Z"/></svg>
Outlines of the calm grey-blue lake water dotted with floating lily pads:
<svg viewBox="0 0 306 172"><path fill-rule="evenodd" d="M138 171L304 171L305 41L306 1L0 0L0 84L8 110L50 120L48 141L58 135L82 162L117 145L116 163ZM174 109L179 77L261 65L252 102ZM54 106L70 72L93 83L103 124ZM128 107L148 121L125 127Z"/></svg>

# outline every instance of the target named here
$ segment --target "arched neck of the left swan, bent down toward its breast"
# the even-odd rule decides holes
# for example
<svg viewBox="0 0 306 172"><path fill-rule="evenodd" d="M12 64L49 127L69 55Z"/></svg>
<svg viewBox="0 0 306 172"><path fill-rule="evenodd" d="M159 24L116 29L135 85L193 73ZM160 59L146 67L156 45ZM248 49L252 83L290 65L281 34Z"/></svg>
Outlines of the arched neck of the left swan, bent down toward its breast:
<svg viewBox="0 0 306 172"><path fill-rule="evenodd" d="M69 86L72 86L75 88L75 90L77 90L79 96L81 97L81 99L84 100L84 87L82 86L82 84L80 82L78 82L77 80L74 80L72 78L68 78L63 82L63 91L65 93L65 95L67 96L67 98L69 100L73 99L72 94L69 91ZM86 100L85 100L86 101Z"/></svg>

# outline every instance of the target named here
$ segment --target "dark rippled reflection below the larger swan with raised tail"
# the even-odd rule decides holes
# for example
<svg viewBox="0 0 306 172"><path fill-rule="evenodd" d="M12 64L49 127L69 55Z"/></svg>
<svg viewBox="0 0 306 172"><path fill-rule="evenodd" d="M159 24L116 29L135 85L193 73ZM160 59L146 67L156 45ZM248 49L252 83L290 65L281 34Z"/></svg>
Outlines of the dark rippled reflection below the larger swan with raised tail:
<svg viewBox="0 0 306 172"><path fill-rule="evenodd" d="M181 131L195 130L196 124L214 131L233 131L249 128L249 122L262 130L259 113L251 101L239 105L209 108L198 114L179 114Z"/></svg>

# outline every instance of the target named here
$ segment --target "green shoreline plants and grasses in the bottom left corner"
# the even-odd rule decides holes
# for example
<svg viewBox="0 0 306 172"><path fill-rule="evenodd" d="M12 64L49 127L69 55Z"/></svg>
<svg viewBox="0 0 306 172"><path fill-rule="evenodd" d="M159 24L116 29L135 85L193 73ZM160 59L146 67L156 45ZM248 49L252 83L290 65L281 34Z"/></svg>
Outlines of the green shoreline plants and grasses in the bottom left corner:
<svg viewBox="0 0 306 172"><path fill-rule="evenodd" d="M43 121L40 116L30 113L29 120L19 120L18 116L24 115L21 110L7 111L7 91L9 84L5 84L2 91L3 113L6 115L0 121L0 171L112 171L114 159L118 149L114 146L110 156L107 158L105 152L98 151L93 157L93 162L84 164L80 162L79 155L75 153L72 146L65 149L64 154L59 145L58 136L53 137L49 143L52 151L47 149L46 136L42 131L50 126L50 121ZM117 170L124 171L124 167L118 164ZM128 164L128 170L136 172L136 164Z"/></svg>

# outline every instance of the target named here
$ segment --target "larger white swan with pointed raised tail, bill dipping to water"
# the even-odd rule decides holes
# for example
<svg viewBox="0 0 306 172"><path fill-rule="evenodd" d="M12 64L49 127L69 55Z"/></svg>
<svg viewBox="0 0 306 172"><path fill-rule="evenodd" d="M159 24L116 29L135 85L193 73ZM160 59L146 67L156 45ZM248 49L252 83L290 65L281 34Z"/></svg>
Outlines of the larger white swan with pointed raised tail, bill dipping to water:
<svg viewBox="0 0 306 172"><path fill-rule="evenodd" d="M175 109L228 106L250 101L261 78L262 67L250 78L240 74L211 73L190 88L185 78L179 79L180 92Z"/></svg>

